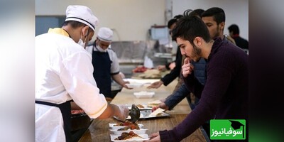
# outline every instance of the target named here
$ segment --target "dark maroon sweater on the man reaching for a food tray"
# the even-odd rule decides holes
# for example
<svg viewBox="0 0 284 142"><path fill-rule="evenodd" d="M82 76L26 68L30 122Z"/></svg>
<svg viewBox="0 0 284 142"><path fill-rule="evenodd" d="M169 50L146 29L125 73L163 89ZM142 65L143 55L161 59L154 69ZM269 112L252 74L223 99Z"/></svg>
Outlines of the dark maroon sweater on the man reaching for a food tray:
<svg viewBox="0 0 284 142"><path fill-rule="evenodd" d="M217 38L207 60L207 82L194 75L185 84L200 102L173 130L160 131L161 141L181 141L210 119L246 119L249 101L249 57L241 48Z"/></svg>

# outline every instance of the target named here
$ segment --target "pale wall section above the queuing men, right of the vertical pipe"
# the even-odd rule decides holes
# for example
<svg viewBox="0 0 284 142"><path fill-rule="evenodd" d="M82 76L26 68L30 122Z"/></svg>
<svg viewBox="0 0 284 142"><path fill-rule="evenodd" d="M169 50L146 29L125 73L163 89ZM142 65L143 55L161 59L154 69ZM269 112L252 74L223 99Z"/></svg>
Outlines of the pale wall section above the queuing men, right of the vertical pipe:
<svg viewBox="0 0 284 142"><path fill-rule="evenodd" d="M249 0L173 0L173 16L182 14L186 9L219 7L226 13L224 34L229 35L228 27L236 23L240 35L249 40Z"/></svg>

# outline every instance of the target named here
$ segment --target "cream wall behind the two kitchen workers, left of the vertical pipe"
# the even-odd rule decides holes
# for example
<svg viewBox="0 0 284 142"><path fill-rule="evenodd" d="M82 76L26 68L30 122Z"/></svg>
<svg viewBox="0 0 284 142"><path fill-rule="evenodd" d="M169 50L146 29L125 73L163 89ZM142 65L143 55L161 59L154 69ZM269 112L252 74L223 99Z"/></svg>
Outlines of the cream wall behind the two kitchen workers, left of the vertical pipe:
<svg viewBox="0 0 284 142"><path fill-rule="evenodd" d="M36 16L65 16L68 5L88 6L99 27L114 29L114 40L146 40L154 24L165 25L165 0L35 0Z"/></svg>

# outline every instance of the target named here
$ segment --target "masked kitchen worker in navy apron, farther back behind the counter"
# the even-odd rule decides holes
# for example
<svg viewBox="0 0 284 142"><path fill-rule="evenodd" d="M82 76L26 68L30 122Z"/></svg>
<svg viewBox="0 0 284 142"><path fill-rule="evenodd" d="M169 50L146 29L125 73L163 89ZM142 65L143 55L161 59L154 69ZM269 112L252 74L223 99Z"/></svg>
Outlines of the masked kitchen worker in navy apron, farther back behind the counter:
<svg viewBox="0 0 284 142"><path fill-rule="evenodd" d="M113 31L110 28L99 28L97 39L94 44L88 46L86 50L92 54L92 65L94 67L94 80L97 82L99 92L107 99L113 99L111 94L111 78L122 87L129 89L121 75L119 74L119 60L114 50L109 49Z"/></svg>

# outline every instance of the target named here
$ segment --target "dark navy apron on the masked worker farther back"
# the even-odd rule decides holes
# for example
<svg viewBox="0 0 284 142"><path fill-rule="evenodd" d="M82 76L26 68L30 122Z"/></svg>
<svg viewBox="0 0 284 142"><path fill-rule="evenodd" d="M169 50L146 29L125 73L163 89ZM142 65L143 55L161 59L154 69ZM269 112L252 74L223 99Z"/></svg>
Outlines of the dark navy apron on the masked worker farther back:
<svg viewBox="0 0 284 142"><path fill-rule="evenodd" d="M111 60L109 53L94 51L92 53L92 64L94 65L94 80L97 82L99 93L104 97L114 98L111 95Z"/></svg>

